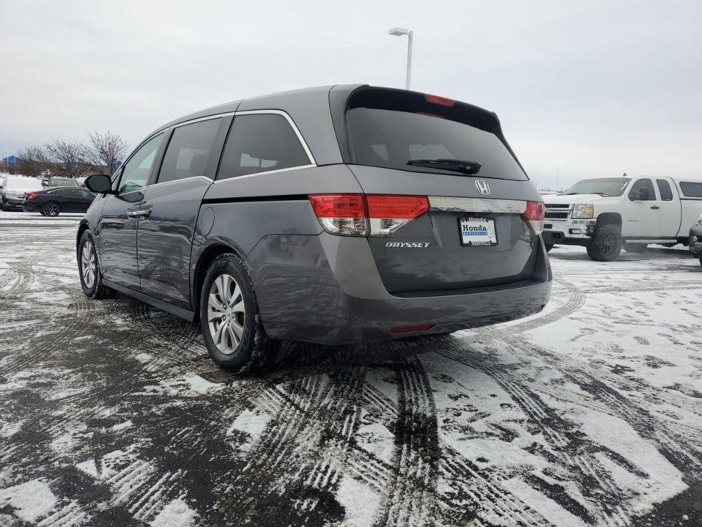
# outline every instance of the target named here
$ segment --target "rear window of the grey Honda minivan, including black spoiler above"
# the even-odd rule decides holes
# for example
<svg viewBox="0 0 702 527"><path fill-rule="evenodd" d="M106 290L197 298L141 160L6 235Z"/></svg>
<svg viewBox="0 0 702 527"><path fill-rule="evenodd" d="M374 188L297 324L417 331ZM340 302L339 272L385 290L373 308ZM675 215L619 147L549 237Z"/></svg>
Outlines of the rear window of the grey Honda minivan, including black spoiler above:
<svg viewBox="0 0 702 527"><path fill-rule="evenodd" d="M524 181L527 175L501 138L489 112L463 103L394 90L359 91L347 110L350 158L371 167L445 173L408 162L460 160L479 163L480 178Z"/></svg>

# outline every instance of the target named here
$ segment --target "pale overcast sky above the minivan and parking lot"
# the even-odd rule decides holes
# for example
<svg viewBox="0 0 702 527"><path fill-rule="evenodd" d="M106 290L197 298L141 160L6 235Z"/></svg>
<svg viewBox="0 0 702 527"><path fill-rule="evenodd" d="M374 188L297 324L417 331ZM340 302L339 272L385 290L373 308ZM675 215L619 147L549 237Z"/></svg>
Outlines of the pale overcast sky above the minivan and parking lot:
<svg viewBox="0 0 702 527"><path fill-rule="evenodd" d="M0 155L322 84L497 112L539 186L702 177L702 1L0 0Z"/></svg>

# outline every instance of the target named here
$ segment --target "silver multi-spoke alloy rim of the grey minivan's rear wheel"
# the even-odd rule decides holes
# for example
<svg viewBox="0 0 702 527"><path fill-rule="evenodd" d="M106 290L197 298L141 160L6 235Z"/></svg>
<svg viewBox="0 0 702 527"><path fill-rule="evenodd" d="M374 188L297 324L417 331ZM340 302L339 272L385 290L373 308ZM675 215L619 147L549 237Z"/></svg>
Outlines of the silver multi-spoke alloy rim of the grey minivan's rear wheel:
<svg viewBox="0 0 702 527"><path fill-rule="evenodd" d="M230 355L244 336L244 293L231 275L219 275L207 300L207 325L221 353Z"/></svg>

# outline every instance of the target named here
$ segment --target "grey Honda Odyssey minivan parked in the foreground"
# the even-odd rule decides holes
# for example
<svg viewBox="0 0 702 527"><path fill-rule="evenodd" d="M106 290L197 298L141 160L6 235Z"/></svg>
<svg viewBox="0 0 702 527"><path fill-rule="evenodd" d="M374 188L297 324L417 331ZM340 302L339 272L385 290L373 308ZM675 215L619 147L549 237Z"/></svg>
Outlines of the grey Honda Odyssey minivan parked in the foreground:
<svg viewBox="0 0 702 527"><path fill-rule="evenodd" d="M543 201L492 112L332 86L160 126L77 233L88 297L114 289L187 320L228 370L282 339L448 333L540 311Z"/></svg>

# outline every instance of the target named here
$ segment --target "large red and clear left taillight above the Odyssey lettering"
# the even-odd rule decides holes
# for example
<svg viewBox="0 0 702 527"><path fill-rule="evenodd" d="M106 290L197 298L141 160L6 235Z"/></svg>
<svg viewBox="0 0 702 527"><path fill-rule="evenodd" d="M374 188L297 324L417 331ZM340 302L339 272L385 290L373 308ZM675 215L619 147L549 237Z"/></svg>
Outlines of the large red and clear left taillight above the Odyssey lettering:
<svg viewBox="0 0 702 527"><path fill-rule="evenodd" d="M344 236L392 235L429 210L425 196L324 194L310 203L324 230Z"/></svg>

